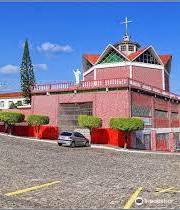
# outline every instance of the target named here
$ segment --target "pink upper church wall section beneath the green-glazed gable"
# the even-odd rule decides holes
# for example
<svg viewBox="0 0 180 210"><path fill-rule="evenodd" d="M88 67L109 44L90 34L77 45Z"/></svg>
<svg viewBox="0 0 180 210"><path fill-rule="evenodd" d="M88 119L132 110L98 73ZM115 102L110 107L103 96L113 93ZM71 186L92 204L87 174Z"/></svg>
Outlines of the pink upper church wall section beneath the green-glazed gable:
<svg viewBox="0 0 180 210"><path fill-rule="evenodd" d="M129 66L108 67L96 70L96 79L129 78Z"/></svg>

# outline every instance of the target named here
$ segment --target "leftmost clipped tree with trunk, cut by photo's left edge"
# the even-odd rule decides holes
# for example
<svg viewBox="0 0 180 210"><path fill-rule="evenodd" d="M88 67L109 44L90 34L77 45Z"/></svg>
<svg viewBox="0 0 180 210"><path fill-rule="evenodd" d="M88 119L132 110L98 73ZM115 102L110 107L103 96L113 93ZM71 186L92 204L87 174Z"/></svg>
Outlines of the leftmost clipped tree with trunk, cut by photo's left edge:
<svg viewBox="0 0 180 210"><path fill-rule="evenodd" d="M11 111L1 111L0 121L5 125L5 132L12 133L12 129L16 123L24 121L24 114ZM9 132L10 131L10 132Z"/></svg>

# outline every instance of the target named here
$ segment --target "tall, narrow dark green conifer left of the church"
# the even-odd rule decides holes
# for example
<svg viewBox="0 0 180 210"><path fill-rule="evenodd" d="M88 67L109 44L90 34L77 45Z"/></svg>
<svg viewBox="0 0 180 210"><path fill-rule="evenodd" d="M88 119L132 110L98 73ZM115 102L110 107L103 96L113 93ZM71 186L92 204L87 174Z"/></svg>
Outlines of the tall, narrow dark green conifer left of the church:
<svg viewBox="0 0 180 210"><path fill-rule="evenodd" d="M23 96L31 103L31 88L35 84L33 65L29 54L28 41L25 41L22 63L20 67L21 91Z"/></svg>

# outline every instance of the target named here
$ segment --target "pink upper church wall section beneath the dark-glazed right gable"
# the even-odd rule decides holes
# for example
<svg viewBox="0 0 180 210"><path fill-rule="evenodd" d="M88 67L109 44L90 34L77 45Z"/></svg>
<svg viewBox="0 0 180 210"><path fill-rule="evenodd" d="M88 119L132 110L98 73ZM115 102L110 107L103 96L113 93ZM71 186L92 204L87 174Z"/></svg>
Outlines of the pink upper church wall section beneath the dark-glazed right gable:
<svg viewBox="0 0 180 210"><path fill-rule="evenodd" d="M162 71L160 69L133 66L132 75L134 80L163 89Z"/></svg>

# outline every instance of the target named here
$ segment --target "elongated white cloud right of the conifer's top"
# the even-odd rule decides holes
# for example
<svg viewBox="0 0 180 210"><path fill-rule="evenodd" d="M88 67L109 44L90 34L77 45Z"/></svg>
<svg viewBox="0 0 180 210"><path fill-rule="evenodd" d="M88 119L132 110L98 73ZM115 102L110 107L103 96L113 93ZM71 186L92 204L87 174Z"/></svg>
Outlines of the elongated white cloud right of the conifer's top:
<svg viewBox="0 0 180 210"><path fill-rule="evenodd" d="M69 53L73 51L70 45L59 45L50 42L42 43L40 46L37 47L37 50L39 52L45 52L45 53L58 53L58 52Z"/></svg>

